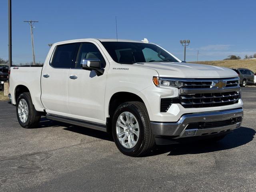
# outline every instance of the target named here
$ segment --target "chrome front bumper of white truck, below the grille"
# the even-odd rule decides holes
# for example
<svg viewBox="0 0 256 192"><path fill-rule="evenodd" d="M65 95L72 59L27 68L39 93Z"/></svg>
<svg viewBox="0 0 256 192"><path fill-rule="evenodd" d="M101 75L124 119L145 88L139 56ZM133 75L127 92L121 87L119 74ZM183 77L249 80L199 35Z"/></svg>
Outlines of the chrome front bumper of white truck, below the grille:
<svg viewBox="0 0 256 192"><path fill-rule="evenodd" d="M216 126L214 128L193 128L188 125L192 123L220 122L241 117L240 122L227 126ZM218 134L239 128L242 123L243 109L224 110L216 112L193 113L183 115L178 122L150 122L153 134L158 136L172 136L172 138L183 138L190 136L204 136Z"/></svg>

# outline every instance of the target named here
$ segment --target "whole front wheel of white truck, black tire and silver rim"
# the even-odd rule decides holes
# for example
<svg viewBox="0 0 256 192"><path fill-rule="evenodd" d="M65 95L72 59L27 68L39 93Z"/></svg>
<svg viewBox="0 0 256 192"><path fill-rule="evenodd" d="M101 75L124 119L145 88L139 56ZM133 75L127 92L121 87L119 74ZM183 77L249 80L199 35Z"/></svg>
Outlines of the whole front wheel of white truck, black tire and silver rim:
<svg viewBox="0 0 256 192"><path fill-rule="evenodd" d="M113 116L112 135L123 154L134 157L148 154L155 144L155 138L144 103L121 104Z"/></svg>

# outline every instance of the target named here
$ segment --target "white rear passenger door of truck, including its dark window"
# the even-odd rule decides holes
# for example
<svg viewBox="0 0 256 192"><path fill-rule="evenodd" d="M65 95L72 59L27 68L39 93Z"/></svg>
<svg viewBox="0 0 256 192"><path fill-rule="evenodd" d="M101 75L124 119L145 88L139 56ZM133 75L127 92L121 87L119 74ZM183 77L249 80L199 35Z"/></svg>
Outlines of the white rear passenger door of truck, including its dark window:
<svg viewBox="0 0 256 192"><path fill-rule="evenodd" d="M55 47L50 63L42 70L41 100L47 113L66 116L68 109L68 79L70 68L75 66L78 43Z"/></svg>

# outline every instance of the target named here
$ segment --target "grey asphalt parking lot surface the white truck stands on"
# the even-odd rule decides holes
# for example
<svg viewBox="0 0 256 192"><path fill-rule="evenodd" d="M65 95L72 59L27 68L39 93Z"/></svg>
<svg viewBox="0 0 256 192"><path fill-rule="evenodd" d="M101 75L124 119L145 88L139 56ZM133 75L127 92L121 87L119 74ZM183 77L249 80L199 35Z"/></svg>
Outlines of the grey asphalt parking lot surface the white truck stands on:
<svg viewBox="0 0 256 192"><path fill-rule="evenodd" d="M24 129L0 102L0 191L256 191L256 88L242 88L242 127L213 144L132 158L103 132L42 118Z"/></svg>

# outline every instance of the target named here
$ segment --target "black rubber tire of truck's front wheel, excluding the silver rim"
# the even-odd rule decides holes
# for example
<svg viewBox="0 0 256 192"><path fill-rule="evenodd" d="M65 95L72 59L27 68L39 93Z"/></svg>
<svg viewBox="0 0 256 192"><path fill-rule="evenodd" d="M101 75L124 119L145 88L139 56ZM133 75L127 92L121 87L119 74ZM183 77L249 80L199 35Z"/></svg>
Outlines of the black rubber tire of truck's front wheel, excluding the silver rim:
<svg viewBox="0 0 256 192"><path fill-rule="evenodd" d="M116 122L120 114L123 112L132 113L138 120L138 125L140 127L138 141L132 148L125 148L122 146L116 134ZM145 104L142 102L125 102L118 106L112 119L112 135L117 148L120 150L120 152L127 156L145 156L151 152L155 145L155 137L150 128L150 120Z"/></svg>

